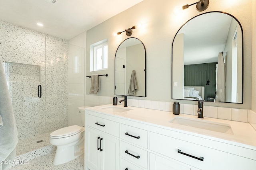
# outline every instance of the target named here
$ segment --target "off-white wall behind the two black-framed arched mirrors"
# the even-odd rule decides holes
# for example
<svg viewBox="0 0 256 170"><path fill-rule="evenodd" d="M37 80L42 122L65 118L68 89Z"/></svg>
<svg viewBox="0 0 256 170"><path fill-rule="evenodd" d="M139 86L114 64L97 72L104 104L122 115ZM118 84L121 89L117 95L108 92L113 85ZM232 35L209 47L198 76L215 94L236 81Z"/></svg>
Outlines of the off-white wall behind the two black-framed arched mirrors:
<svg viewBox="0 0 256 170"><path fill-rule="evenodd" d="M195 6L184 10L183 14L173 14L176 6L183 6L187 2L166 0L144 0L128 10L110 18L87 31L87 60L89 45L108 39L108 70L97 74L108 74L101 80L99 96L114 96L114 56L118 45L127 38L122 33L114 37L113 32L123 31L138 22L144 24L142 29L134 29L131 37L140 39L147 51L147 97L141 100L166 101L171 100L171 54L172 41L178 29L190 18L202 14ZM244 31L244 104L210 103L209 106L235 107L250 109L251 107L251 52L252 52L252 1L251 0L215 0L211 1L204 12L223 11L235 16L242 24ZM127 18L129 16L129 18ZM88 64L87 64L87 70ZM92 73L90 73L92 74ZM160 85L159 85L160 84ZM87 86L90 85L87 82ZM132 97L131 97L132 98ZM134 97L135 98L135 97ZM181 103L196 104L191 101Z"/></svg>

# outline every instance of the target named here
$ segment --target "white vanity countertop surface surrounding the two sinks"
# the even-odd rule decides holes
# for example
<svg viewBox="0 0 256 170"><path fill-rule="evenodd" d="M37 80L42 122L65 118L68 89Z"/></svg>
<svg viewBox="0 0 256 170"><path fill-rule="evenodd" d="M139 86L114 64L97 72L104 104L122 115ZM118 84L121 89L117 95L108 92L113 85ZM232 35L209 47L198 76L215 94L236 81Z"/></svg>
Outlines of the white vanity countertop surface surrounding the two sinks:
<svg viewBox="0 0 256 170"><path fill-rule="evenodd" d="M131 109L131 110L119 113L119 112L107 111L102 109L106 107L119 107L119 108ZM250 125L250 123L230 121L230 120L224 120L224 119L215 119L210 117L204 117L204 119L200 119L196 115L186 115L186 114L174 115L172 114L172 112L168 112L168 111L145 109L145 108L131 107L131 106L124 107L123 105L113 106L112 104L88 107L88 108L85 108L85 110L96 111L96 112L107 114L107 115L122 117L124 119L128 119L128 120L130 119L133 121L138 121L140 123L146 123L150 125L153 124L159 127L170 129L172 131L178 131L178 132L186 133L189 135L203 137L203 138L211 139L214 141L220 141L223 143L228 143L231 145L236 145L236 146L256 150L256 131ZM215 131L210 131L205 129L199 129L195 127L189 127L185 125L178 125L175 123L169 123L169 121L176 116L200 119L203 121L214 121L217 123L226 123L231 126L234 134L220 133L220 132L215 132Z"/></svg>

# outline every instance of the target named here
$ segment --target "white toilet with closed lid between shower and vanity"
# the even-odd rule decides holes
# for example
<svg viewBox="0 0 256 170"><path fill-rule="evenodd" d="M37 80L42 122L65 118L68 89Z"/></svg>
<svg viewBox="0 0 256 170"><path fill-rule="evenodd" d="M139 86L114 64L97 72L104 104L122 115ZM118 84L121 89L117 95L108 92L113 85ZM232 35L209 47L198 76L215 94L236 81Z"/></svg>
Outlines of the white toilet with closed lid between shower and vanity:
<svg viewBox="0 0 256 170"><path fill-rule="evenodd" d="M57 146L54 165L64 164L84 154L84 108L86 107L88 106L78 107L82 127L72 125L50 133L50 144Z"/></svg>

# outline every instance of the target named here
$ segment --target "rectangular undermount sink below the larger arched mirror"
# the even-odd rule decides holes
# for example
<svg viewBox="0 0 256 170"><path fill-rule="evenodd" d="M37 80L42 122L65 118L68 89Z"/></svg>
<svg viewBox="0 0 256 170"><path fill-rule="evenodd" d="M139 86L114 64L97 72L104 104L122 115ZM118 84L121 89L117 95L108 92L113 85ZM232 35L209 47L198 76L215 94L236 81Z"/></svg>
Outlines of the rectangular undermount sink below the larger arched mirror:
<svg viewBox="0 0 256 170"><path fill-rule="evenodd" d="M227 134L234 134L230 125L225 123L217 123L213 121L205 121L205 120L198 120L188 117L174 117L169 121L170 123L175 123L179 125L189 126L189 127L196 127L199 129L205 129L210 131L216 131L220 133L227 133Z"/></svg>

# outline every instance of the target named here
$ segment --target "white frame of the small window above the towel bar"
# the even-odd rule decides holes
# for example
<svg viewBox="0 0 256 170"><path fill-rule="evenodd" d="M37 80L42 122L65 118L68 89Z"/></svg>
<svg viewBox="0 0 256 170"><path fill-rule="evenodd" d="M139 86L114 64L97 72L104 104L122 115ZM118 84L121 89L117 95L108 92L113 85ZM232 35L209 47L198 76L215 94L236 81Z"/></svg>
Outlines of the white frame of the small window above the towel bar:
<svg viewBox="0 0 256 170"><path fill-rule="evenodd" d="M108 46L108 39L104 39L102 41L99 41L97 43L90 45L90 72L108 69L108 56L106 56L106 59L105 59L105 60L107 60L106 61L107 67L103 68L104 58L102 56L102 69L96 69L97 68L96 67L97 66L96 51L97 51L97 49L102 48L102 54L103 54L104 46Z"/></svg>

